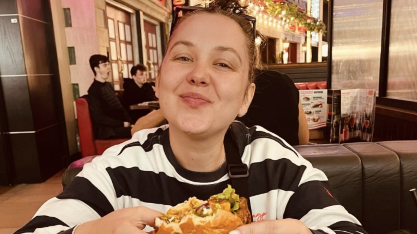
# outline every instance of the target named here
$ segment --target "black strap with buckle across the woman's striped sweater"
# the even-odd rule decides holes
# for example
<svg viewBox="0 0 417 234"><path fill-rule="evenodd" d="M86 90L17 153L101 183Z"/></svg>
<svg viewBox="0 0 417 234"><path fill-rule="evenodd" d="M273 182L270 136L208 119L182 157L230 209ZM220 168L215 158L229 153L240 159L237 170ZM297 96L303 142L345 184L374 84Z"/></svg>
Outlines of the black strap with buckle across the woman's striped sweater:
<svg viewBox="0 0 417 234"><path fill-rule="evenodd" d="M249 197L249 168L242 162L242 155L239 154L236 144L232 139L230 141L228 144L231 144L233 149L229 150L229 154L226 153L227 170L229 171L232 187L236 190L236 194L248 200L248 208L251 213L251 221L253 222L251 200Z"/></svg>

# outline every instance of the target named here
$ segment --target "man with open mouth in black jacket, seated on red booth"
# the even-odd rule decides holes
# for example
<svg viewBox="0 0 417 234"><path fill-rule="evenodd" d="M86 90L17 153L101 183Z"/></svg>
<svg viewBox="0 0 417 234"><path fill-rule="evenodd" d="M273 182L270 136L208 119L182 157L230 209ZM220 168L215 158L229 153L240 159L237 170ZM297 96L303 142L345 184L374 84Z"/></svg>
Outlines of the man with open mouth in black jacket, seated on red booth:
<svg viewBox="0 0 417 234"><path fill-rule="evenodd" d="M88 105L95 137L131 138L131 118L116 97L113 85L106 82L111 71L108 57L91 56L90 67L95 77L88 89Z"/></svg>

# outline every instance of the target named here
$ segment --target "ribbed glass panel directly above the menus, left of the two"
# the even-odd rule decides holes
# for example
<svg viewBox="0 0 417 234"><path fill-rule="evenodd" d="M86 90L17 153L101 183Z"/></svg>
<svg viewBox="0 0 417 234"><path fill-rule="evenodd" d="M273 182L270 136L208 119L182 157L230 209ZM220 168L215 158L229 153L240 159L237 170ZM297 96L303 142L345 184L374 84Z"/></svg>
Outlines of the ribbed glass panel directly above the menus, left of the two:
<svg viewBox="0 0 417 234"><path fill-rule="evenodd" d="M382 0L335 0L332 88L378 90Z"/></svg>

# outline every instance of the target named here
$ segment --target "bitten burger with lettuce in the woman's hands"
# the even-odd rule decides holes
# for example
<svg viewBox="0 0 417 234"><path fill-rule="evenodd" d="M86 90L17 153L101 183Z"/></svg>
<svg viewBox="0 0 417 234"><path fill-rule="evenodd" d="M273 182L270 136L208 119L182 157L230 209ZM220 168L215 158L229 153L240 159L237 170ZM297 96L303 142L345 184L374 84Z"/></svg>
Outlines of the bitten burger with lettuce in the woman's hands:
<svg viewBox="0 0 417 234"><path fill-rule="evenodd" d="M228 234L250 224L248 200L230 185L207 201L190 197L155 219L156 234Z"/></svg>

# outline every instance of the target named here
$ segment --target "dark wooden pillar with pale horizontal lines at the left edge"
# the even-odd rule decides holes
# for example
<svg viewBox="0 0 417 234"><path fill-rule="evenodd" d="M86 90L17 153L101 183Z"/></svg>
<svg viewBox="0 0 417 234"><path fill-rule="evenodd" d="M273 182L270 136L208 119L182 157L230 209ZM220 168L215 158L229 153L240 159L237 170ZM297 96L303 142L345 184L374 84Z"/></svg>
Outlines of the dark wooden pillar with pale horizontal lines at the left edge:
<svg viewBox="0 0 417 234"><path fill-rule="evenodd" d="M40 183L68 154L49 1L1 0L0 31L3 156L12 183Z"/></svg>

